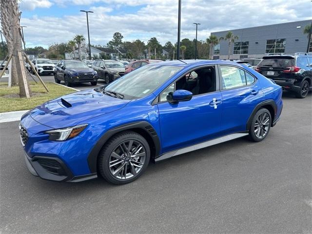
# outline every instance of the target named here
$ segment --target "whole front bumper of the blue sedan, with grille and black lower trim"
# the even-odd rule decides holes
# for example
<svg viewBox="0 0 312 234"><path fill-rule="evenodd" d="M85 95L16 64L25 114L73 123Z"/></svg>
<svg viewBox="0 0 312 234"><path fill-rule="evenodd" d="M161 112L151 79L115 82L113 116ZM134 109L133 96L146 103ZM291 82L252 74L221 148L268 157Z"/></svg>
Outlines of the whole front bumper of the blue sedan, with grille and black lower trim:
<svg viewBox="0 0 312 234"><path fill-rule="evenodd" d="M52 141L45 133L50 127L39 124L29 113L20 122L20 141L26 166L31 174L59 182L78 182L96 178L88 164L96 142L83 137Z"/></svg>

